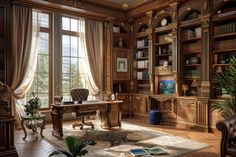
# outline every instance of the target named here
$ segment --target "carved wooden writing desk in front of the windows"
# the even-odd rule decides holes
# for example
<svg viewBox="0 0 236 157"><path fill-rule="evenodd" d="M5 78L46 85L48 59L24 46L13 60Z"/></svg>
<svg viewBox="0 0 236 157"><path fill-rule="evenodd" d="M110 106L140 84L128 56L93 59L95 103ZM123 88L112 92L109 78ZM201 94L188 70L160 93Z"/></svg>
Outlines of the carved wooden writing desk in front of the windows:
<svg viewBox="0 0 236 157"><path fill-rule="evenodd" d="M121 127L122 113L119 106L120 103L122 103L122 101L84 101L81 104L52 104L52 134L57 137L62 137L63 113L75 111L100 110L102 128Z"/></svg>

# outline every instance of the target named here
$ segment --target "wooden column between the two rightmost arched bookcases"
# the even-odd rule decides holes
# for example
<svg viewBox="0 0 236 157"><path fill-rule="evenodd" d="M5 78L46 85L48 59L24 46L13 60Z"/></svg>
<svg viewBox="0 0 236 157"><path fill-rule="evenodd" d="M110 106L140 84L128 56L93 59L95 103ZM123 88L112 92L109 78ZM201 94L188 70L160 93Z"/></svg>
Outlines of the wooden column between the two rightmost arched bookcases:
<svg viewBox="0 0 236 157"><path fill-rule="evenodd" d="M210 15L201 17L202 23L202 83L200 88L201 97L210 96L210 81L209 81L209 20Z"/></svg>

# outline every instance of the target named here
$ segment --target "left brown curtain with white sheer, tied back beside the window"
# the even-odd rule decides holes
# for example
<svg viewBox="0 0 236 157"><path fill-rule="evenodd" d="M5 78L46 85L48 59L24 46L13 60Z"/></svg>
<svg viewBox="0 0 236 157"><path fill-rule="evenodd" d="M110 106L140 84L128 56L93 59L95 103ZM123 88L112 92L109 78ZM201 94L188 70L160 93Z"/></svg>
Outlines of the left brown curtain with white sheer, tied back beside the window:
<svg viewBox="0 0 236 157"><path fill-rule="evenodd" d="M32 8L14 5L12 16L12 78L13 114L22 113L16 99L22 99L30 89L37 65L36 45L39 36L38 22L32 21ZM17 113L16 113L17 110ZM17 115L16 115L17 116Z"/></svg>

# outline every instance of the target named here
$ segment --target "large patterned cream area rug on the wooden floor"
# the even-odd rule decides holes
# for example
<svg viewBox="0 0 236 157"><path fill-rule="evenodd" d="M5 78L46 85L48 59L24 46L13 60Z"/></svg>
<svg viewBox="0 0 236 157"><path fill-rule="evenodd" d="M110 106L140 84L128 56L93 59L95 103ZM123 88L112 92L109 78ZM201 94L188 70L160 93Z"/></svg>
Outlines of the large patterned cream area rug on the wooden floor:
<svg viewBox="0 0 236 157"><path fill-rule="evenodd" d="M87 157L128 157L130 149L143 147L161 147L167 154L162 157L182 156L197 150L209 147L208 144L195 140L170 135L160 131L154 131L142 126L122 122L121 129L112 128L110 130L100 128L100 121L95 122L95 129L84 128L80 130L72 128L67 123L63 125L64 136L62 139L51 134L52 128L47 126L44 131L45 140L58 149L66 150L64 138L75 136L79 140L90 139L97 144L87 146Z"/></svg>

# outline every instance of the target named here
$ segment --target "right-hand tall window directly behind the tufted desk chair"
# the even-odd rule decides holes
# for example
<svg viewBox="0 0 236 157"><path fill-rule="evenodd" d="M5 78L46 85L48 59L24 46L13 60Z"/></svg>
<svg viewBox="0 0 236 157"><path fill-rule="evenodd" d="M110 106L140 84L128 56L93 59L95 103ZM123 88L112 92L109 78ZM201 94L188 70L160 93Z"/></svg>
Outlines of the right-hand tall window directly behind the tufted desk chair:
<svg viewBox="0 0 236 157"><path fill-rule="evenodd" d="M62 95L71 99L70 91L75 87L86 87L81 72L82 51L79 48L79 19L62 17Z"/></svg>

